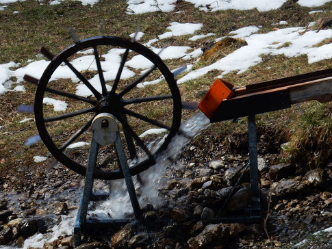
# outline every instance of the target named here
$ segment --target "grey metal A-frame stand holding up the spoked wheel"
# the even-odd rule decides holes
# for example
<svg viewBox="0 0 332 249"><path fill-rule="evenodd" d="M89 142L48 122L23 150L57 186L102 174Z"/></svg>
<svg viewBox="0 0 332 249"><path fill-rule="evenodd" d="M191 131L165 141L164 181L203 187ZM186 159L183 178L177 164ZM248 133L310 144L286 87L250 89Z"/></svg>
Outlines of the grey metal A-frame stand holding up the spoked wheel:
<svg viewBox="0 0 332 249"><path fill-rule="evenodd" d="M79 208L77 209L77 215L73 231L75 247L81 244L81 234L86 228L110 228L111 226L114 226L116 224L125 224L129 222L129 220L125 219L120 219L120 220L86 219L89 202L96 199L105 200L110 195L110 194L92 193L92 187L94 183L93 171L97 163L97 155L99 150L98 142L101 142L102 144L110 144L114 142L116 153L118 155L118 161L120 163L120 168L121 171L123 172L123 176L125 178L125 183L127 186L127 191L129 194L129 198L131 200L131 205L133 207L133 213L136 219L140 219L141 217L140 205L138 203L135 187L133 185L131 174L129 172L129 166L127 164L127 159L125 157L125 150L123 148L123 144L121 142L118 129L115 129L116 122L114 123L113 120L115 120L115 118L110 114L99 114L96 116L96 118L94 118L94 122L92 122L92 138L91 138L88 166L86 168L86 179L84 183L84 189L81 195L81 201L79 203ZM110 125L112 127L110 127Z"/></svg>

